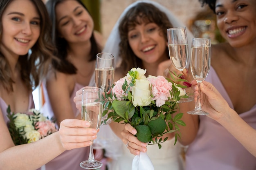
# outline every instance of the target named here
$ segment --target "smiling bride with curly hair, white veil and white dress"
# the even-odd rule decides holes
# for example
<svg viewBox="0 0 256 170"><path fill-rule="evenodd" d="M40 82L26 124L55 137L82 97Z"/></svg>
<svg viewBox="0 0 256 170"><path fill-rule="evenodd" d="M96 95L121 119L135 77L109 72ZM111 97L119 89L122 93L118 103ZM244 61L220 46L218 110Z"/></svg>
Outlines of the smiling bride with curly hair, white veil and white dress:
<svg viewBox="0 0 256 170"><path fill-rule="evenodd" d="M173 26L184 26L184 24L162 5L153 1L137 1L130 4L121 14L103 49L103 52L113 53L117 58L119 67L115 70L115 81L124 77L134 67L146 69L146 77L163 75L165 68L158 69L158 67L162 62L171 63L167 29ZM189 31L187 33L191 40L192 34ZM162 70L162 73L159 70ZM111 129L107 131L106 127L101 128L98 139L101 134L111 136L112 139L114 135L111 135ZM121 130L124 129L124 124L112 122L110 127L122 139ZM161 149L157 145L147 146L147 154L153 166L156 170L183 170L181 144L177 142L173 146L175 141L173 133L165 134L164 137L168 137L168 140L162 143ZM106 145L106 153L113 151L120 141L118 138L115 141L110 140ZM127 149L132 143L126 145L127 140L123 139L123 141L125 144L121 142L120 146L123 153L119 153L121 156L112 162L113 170L130 170L132 167L132 159L135 156Z"/></svg>

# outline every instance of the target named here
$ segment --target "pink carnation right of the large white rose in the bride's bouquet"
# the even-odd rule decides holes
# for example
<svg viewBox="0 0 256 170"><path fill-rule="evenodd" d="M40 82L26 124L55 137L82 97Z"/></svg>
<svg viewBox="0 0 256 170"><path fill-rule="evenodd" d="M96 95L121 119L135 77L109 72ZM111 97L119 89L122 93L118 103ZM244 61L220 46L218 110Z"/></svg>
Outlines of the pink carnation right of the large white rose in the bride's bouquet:
<svg viewBox="0 0 256 170"><path fill-rule="evenodd" d="M171 97L169 91L172 90L172 83L168 82L164 76L158 76L153 78L148 78L152 85L153 100L157 107L162 106Z"/></svg>

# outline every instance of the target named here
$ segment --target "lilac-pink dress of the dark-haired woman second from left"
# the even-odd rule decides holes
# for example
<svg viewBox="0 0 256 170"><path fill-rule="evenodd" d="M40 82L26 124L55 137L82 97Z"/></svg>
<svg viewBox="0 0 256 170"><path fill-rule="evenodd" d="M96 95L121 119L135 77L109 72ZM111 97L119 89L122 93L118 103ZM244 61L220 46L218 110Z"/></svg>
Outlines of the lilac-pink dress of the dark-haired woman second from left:
<svg viewBox="0 0 256 170"><path fill-rule="evenodd" d="M70 103L72 105L74 116L79 114L79 110L77 110L76 105L73 101L73 98L76 95L76 91L78 91L83 86L81 84L75 84L72 95L70 96ZM52 106L49 102L49 97L47 95L47 90L45 88L45 84L43 84L43 92L45 97L45 104L41 108L41 112L48 116L49 119L54 117L54 113L52 111ZM89 156L89 147L77 148L72 150L66 150L61 155L45 164L45 170L83 170L80 167L80 163L88 159Z"/></svg>

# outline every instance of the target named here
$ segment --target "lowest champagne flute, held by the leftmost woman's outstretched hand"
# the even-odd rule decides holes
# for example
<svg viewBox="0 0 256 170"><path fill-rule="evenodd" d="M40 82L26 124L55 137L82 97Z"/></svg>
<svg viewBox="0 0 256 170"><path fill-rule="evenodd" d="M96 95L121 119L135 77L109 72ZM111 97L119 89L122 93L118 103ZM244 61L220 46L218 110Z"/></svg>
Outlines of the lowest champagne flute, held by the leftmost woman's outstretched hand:
<svg viewBox="0 0 256 170"><path fill-rule="evenodd" d="M102 117L102 91L97 87L86 87L82 91L82 120L91 123L90 128L99 129ZM92 140L93 143L93 140ZM102 163L94 160L93 144L90 145L89 158L80 163L81 168L84 169L98 169L101 168Z"/></svg>

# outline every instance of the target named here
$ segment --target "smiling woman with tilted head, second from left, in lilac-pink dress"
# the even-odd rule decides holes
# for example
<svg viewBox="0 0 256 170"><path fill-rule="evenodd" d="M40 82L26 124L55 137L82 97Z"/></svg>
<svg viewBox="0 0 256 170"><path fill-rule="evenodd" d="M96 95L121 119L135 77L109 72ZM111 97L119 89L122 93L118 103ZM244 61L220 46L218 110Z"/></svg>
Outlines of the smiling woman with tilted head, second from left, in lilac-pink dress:
<svg viewBox="0 0 256 170"><path fill-rule="evenodd" d="M41 110L54 117L59 126L64 119L81 119L73 98L83 86L94 86L95 59L101 45L94 36L92 17L80 0L48 0L46 8L53 23L55 55L60 62L53 60L43 82L45 103ZM101 159L102 155L102 150L97 150L95 159ZM45 167L46 170L78 170L88 156L88 147L66 151Z"/></svg>

